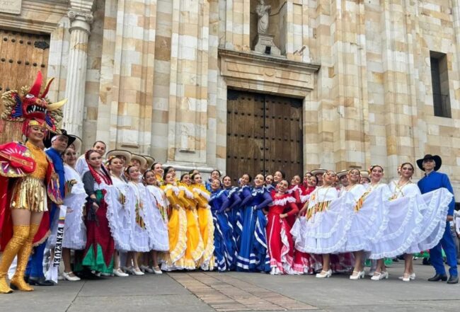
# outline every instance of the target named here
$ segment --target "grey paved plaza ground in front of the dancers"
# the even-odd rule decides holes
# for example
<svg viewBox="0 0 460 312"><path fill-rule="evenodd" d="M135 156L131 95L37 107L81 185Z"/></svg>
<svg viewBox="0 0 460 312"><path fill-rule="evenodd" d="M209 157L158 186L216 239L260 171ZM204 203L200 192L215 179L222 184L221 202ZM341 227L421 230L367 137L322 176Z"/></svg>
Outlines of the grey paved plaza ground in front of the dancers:
<svg viewBox="0 0 460 312"><path fill-rule="evenodd" d="M427 282L432 267L415 261L415 281L402 282L403 262L388 280L347 275L271 276L260 273L171 272L98 281L59 281L31 293L0 295L1 312L93 311L460 311L460 284Z"/></svg>

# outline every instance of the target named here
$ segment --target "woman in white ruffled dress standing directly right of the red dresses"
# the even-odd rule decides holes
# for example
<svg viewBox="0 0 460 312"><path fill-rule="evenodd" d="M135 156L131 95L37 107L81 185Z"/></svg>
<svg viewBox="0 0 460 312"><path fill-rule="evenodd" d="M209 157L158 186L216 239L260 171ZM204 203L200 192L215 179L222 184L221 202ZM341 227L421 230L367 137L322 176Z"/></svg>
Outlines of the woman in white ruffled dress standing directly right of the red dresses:
<svg viewBox="0 0 460 312"><path fill-rule="evenodd" d="M323 256L323 270L316 277L330 277L330 253L343 250L346 233L351 226L353 197L346 193L338 198L338 190L333 187L336 174L326 171L323 174L323 186L316 188L310 195L306 211L306 224L301 233L296 229L296 248L303 253L315 253ZM295 226L294 226L295 228Z"/></svg>

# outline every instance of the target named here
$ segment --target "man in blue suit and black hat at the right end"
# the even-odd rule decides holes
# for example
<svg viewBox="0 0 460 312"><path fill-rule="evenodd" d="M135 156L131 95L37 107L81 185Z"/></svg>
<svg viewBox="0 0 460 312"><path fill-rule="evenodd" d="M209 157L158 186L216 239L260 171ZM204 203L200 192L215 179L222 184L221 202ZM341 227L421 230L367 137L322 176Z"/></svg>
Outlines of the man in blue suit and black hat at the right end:
<svg viewBox="0 0 460 312"><path fill-rule="evenodd" d="M441 157L430 154L418 159L417 166L422 171L425 171L425 177L418 181L418 187L422 194L437 190L440 187L445 187L449 192L454 194L452 185L450 184L449 177L445 173L437 172L441 168ZM459 274L457 272L456 263L456 249L454 239L450 232L449 221L454 219L455 200L452 197L452 202L449 204L449 211L447 212L446 229L441 241L430 250L430 260L433 267L435 267L436 274L434 277L428 279L430 282L447 281L447 284L457 284L459 282ZM442 261L442 248L447 257L447 265L449 265L449 280L447 280L446 269Z"/></svg>

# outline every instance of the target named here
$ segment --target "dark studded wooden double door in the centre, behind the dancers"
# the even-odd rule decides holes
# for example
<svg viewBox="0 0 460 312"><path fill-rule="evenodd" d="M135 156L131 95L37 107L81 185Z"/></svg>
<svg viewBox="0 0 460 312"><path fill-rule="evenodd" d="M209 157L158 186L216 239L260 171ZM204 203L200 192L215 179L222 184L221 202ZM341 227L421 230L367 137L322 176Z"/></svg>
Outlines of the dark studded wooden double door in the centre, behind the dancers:
<svg viewBox="0 0 460 312"><path fill-rule="evenodd" d="M226 174L287 178L303 171L302 102L268 94L227 92Z"/></svg>

